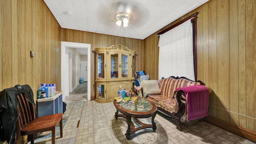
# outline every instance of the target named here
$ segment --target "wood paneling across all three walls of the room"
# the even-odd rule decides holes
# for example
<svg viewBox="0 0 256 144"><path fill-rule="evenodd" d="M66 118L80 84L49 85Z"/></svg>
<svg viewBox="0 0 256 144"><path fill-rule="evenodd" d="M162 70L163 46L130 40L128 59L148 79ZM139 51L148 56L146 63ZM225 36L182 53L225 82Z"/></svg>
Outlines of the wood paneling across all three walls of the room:
<svg viewBox="0 0 256 144"><path fill-rule="evenodd" d="M0 6L0 90L29 84L34 93L42 82L56 83L60 89L60 41L91 44L91 50L123 44L136 51L136 71L158 79L157 33L199 12L197 79L213 90L209 114L256 132L255 0L210 0L145 40L62 29L43 0L0 0ZM92 52L91 66L94 97Z"/></svg>

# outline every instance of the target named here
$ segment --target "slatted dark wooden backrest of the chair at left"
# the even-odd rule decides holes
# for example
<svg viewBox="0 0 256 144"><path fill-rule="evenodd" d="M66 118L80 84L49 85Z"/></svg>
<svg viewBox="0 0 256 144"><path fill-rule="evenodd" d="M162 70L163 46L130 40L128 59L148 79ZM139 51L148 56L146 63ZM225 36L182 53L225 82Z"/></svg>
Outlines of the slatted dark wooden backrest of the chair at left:
<svg viewBox="0 0 256 144"><path fill-rule="evenodd" d="M18 94L17 100L17 110L19 112L17 121L20 125L20 130L22 130L26 125L30 124L30 122L36 118L36 111L34 104L28 101L28 98L24 93Z"/></svg>

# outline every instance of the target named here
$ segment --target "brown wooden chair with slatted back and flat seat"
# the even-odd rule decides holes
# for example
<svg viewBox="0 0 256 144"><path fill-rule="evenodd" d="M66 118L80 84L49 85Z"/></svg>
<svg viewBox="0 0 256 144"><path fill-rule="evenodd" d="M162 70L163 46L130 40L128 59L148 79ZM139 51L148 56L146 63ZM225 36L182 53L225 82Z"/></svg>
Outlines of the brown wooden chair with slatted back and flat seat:
<svg viewBox="0 0 256 144"><path fill-rule="evenodd" d="M35 134L39 132L52 131L52 144L56 142L56 126L60 122L60 138L63 137L62 116L52 114L36 118L35 106L28 101L26 96L21 93L17 95L19 117L16 121L16 144L22 143L21 136L28 135L31 144L34 144Z"/></svg>

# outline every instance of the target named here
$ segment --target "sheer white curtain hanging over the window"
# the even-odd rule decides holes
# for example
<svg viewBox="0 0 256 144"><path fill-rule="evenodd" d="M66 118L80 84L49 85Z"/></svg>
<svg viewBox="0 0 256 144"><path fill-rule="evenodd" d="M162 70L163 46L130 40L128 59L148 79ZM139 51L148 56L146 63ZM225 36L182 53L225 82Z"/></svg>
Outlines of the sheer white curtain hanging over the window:
<svg viewBox="0 0 256 144"><path fill-rule="evenodd" d="M192 43L190 20L160 35L158 79L185 76L195 80Z"/></svg>

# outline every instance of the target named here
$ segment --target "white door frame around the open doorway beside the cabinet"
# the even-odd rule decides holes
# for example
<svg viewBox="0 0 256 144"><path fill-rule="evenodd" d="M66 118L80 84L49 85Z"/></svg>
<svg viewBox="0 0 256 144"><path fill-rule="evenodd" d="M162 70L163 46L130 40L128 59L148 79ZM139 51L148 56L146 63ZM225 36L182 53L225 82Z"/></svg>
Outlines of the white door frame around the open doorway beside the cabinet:
<svg viewBox="0 0 256 144"><path fill-rule="evenodd" d="M61 90L64 91L64 64L66 48L84 48L88 50L88 82L87 82L87 100L91 100L91 44L77 42L61 42Z"/></svg>

